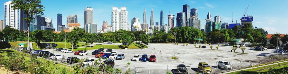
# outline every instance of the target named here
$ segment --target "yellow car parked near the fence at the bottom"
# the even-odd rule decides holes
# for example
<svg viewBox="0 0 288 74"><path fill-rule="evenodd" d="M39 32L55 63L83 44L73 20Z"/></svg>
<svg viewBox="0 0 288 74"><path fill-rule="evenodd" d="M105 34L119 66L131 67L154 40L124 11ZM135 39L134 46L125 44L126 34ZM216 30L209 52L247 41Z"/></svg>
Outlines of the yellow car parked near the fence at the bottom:
<svg viewBox="0 0 288 74"><path fill-rule="evenodd" d="M199 64L198 64L198 70L200 70L200 71L204 71L204 73L211 73L212 72L212 69L211 69L211 67L207 64L207 63L205 63L205 62L200 62Z"/></svg>

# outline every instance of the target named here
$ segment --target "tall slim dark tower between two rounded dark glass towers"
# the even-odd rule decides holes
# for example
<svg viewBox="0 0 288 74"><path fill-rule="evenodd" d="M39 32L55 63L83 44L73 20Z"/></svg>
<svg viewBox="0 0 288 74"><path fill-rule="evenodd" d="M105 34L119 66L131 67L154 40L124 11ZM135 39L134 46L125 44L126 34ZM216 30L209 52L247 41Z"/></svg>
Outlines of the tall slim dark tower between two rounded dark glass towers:
<svg viewBox="0 0 288 74"><path fill-rule="evenodd" d="M183 5L183 12L185 12L185 23L186 26L188 26L189 23L189 17L190 17L190 5Z"/></svg>

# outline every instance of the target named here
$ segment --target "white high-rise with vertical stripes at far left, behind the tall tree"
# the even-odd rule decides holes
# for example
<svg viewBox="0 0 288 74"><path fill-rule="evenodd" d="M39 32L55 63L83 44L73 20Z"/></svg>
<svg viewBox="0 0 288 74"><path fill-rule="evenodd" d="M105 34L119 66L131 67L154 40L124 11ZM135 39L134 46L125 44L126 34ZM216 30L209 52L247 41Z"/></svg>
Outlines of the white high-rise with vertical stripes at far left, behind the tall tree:
<svg viewBox="0 0 288 74"><path fill-rule="evenodd" d="M11 28L20 30L20 31L26 31L28 28L27 23L23 20L23 18L27 17L24 14L24 11L21 11L21 9L12 9L11 7L13 4L11 4L12 1L8 1L4 3L4 24L2 25L3 28L10 26Z"/></svg>

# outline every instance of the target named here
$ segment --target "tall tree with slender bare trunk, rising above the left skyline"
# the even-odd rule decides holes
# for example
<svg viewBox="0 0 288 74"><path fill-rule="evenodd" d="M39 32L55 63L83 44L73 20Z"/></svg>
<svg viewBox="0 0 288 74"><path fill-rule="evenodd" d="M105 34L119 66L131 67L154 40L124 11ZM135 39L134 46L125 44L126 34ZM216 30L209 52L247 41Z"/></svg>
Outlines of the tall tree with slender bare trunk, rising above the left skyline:
<svg viewBox="0 0 288 74"><path fill-rule="evenodd" d="M32 15L44 15L43 11L45 10L43 9L44 6L41 5L41 0L13 0L11 4L13 4L11 7L12 9L21 9L21 11L24 11L24 14L27 16L23 19L27 23L27 31L29 31L31 20L36 19L32 17ZM27 36L27 44L27 48L29 49L29 32Z"/></svg>

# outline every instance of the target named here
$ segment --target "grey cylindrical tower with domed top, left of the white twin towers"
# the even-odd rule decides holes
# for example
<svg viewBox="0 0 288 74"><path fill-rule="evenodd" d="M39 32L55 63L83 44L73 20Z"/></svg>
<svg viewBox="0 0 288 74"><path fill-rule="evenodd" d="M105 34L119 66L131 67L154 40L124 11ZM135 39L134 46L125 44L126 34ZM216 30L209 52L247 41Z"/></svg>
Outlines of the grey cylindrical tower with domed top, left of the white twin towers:
<svg viewBox="0 0 288 74"><path fill-rule="evenodd" d="M84 9L84 25L93 23L93 8L87 7Z"/></svg>

